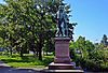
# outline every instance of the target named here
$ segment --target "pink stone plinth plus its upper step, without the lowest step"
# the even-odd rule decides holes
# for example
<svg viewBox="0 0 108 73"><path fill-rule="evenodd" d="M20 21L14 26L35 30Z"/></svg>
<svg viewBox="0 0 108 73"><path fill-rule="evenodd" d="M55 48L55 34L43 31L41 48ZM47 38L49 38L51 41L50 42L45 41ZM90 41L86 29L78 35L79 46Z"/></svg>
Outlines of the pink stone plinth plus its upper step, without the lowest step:
<svg viewBox="0 0 108 73"><path fill-rule="evenodd" d="M54 62L49 64L51 70L71 70L76 63L70 61L69 56L70 38L55 38L55 58Z"/></svg>

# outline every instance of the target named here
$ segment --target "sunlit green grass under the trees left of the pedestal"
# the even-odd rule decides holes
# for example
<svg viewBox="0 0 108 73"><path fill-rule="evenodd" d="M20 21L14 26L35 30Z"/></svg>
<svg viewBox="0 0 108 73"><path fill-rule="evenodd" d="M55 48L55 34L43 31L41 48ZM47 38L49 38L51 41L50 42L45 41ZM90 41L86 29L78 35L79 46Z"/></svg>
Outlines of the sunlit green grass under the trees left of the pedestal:
<svg viewBox="0 0 108 73"><path fill-rule="evenodd" d="M18 55L0 56L0 60L4 61L6 64L13 68L45 68L50 62L53 61L53 56L44 56L43 60L40 61L38 58L35 58L32 55L25 55L21 58Z"/></svg>

